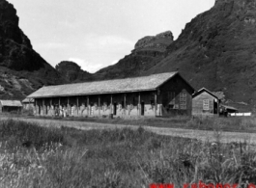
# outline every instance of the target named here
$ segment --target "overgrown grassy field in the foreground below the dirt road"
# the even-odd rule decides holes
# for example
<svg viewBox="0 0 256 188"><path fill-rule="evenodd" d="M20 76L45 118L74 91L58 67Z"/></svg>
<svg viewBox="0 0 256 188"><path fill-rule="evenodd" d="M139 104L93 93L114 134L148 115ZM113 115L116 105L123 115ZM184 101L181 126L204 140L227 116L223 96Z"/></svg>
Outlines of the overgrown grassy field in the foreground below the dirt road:
<svg viewBox="0 0 256 188"><path fill-rule="evenodd" d="M149 187L256 183L256 148L136 129L46 128L0 121L0 187Z"/></svg>

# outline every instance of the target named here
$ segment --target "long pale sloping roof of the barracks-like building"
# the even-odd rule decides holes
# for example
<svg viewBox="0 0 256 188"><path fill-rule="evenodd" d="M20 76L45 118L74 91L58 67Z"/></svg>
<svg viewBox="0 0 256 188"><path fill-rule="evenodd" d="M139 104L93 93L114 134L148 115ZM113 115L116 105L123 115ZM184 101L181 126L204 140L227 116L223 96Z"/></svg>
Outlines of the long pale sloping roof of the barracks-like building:
<svg viewBox="0 0 256 188"><path fill-rule="evenodd" d="M125 92L154 91L178 72L152 74L143 77L84 82L47 86L28 95L28 98L67 96L82 94L115 94Z"/></svg>

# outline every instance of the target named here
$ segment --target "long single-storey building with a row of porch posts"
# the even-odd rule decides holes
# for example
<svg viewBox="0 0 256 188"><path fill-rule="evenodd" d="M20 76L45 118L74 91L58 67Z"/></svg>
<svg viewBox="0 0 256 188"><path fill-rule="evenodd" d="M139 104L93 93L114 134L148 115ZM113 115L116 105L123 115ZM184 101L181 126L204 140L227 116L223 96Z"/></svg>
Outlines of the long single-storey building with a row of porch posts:
<svg viewBox="0 0 256 188"><path fill-rule="evenodd" d="M194 89L178 72L47 86L27 96L37 116L164 117L191 115ZM58 109L56 111L56 109Z"/></svg>

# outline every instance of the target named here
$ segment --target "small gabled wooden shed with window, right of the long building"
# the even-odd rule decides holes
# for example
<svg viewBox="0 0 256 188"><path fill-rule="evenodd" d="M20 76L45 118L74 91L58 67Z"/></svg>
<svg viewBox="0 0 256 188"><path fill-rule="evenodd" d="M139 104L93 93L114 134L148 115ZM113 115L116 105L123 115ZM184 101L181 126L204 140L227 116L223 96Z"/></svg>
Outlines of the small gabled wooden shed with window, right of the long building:
<svg viewBox="0 0 256 188"><path fill-rule="evenodd" d="M219 99L209 90L202 88L192 95L192 116L218 116Z"/></svg>

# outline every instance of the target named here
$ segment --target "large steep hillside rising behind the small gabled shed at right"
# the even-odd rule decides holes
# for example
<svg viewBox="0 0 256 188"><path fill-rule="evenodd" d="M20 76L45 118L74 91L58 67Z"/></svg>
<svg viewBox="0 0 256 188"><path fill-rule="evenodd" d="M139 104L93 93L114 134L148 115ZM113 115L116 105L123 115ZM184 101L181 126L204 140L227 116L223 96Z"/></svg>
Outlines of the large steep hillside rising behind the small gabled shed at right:
<svg viewBox="0 0 256 188"><path fill-rule="evenodd" d="M179 70L196 89L221 91L229 103L255 108L255 3L216 1L213 9L186 24L166 58L147 73Z"/></svg>

